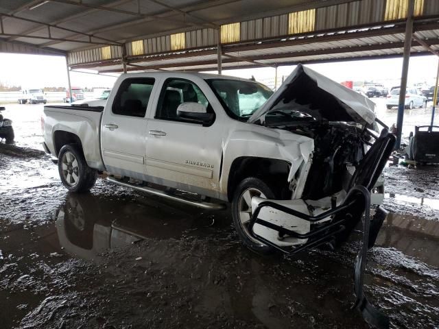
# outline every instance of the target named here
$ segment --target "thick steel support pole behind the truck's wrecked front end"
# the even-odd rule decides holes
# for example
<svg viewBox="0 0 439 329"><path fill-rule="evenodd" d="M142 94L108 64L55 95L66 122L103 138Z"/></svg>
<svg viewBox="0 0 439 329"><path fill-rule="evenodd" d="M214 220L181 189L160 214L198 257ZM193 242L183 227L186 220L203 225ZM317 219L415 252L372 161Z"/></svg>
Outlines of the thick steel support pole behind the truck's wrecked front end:
<svg viewBox="0 0 439 329"><path fill-rule="evenodd" d="M399 103L398 103L398 117L396 119L397 130L396 130L395 149L399 149L399 147L401 147L401 134L403 132L405 91L407 90L407 75L409 71L410 48L412 47L413 13L414 13L414 0L409 0L407 21L405 23L403 72L401 73L401 86L399 88Z"/></svg>

